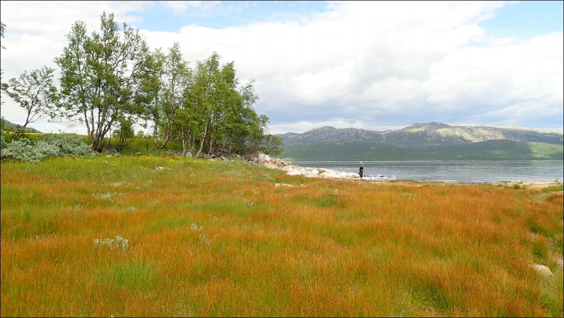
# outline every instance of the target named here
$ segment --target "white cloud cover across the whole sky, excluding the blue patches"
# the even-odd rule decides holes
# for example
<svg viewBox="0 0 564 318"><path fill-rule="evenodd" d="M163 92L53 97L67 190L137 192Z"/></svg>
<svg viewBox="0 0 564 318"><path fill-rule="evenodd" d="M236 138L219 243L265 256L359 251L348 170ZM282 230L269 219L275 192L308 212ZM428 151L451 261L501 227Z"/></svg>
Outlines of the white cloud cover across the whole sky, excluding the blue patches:
<svg viewBox="0 0 564 318"><path fill-rule="evenodd" d="M2 51L4 78L58 56L66 44L64 34L78 17L88 19L93 29L103 8L116 13L117 21L138 21L132 15L135 11L158 5L109 2L109 7L87 2L91 13L85 15L74 3L68 5L69 14L59 12L56 3L46 3L51 5L42 11L54 16L48 15L49 26L43 29L52 30L27 26L34 31L24 38L10 34L2 2L2 21L7 25L2 43L8 47ZM174 4L177 11L205 5ZM303 132L328 123L385 130L426 121L562 129L563 34L492 38L478 23L503 5L329 2L327 11L299 20L142 32L153 47L166 50L178 41L192 63L214 51L223 61L235 61L241 81L255 80L259 96L255 110L270 118L276 133ZM24 10L19 14L22 24L41 16Z"/></svg>

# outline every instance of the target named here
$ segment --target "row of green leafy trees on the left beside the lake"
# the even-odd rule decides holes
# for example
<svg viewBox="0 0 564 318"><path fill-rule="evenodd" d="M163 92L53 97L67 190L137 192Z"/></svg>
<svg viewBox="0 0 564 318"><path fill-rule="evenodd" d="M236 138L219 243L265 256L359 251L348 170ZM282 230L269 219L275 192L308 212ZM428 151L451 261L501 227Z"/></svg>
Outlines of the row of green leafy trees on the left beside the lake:
<svg viewBox="0 0 564 318"><path fill-rule="evenodd" d="M27 112L13 140L29 123L50 118L85 125L92 151L102 151L109 139L117 150L125 147L135 124L150 131L149 151L170 141L196 156L282 151L281 139L267 134L268 117L253 109L254 81L240 83L233 61L221 64L214 52L190 65L178 43L151 50L139 30L105 12L100 32L89 33L76 21L67 41L54 59L60 89L49 67L2 83L2 93Z"/></svg>

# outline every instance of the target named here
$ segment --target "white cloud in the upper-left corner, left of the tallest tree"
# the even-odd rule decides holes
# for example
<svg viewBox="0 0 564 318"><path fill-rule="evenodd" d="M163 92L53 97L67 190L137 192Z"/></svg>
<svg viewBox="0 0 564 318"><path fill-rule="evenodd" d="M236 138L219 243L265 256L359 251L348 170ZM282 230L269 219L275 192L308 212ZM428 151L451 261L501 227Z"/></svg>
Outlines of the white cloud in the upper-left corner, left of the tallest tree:
<svg viewBox="0 0 564 318"><path fill-rule="evenodd" d="M0 15L2 23L6 25L5 38L2 39L6 49L2 50L1 55L3 81L43 65L57 69L54 58L60 56L63 47L68 45L66 36L74 22L84 21L87 30L94 32L99 29L100 15L105 10L107 14L113 13L118 23L126 21L134 24L140 18L128 12L140 11L150 5L145 1L2 1ZM2 101L5 102L1 108L2 116L8 121L23 124L24 110L6 96L2 96ZM63 123L56 125L46 120L32 126L46 132L58 132L61 129L86 133L85 127L79 129L76 125L70 127Z"/></svg>

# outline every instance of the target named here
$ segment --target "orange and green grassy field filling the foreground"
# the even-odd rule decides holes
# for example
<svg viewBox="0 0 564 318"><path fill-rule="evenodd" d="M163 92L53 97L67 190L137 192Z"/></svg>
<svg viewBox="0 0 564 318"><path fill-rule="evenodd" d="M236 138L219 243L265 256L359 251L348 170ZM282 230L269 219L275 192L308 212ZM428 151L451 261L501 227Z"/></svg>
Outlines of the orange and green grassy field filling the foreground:
<svg viewBox="0 0 564 318"><path fill-rule="evenodd" d="M563 315L562 186L148 156L3 162L1 186L2 317Z"/></svg>

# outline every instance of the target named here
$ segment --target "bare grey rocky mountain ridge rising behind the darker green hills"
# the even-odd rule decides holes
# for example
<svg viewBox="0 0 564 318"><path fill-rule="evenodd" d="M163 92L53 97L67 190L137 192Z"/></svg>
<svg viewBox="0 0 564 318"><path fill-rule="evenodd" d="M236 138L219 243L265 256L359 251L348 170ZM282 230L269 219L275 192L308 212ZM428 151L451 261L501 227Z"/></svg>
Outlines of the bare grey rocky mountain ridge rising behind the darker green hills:
<svg viewBox="0 0 564 318"><path fill-rule="evenodd" d="M563 144L562 134L521 127L499 127L481 125L447 125L441 122L414 123L400 130L372 131L355 128L336 129L324 126L302 134L287 132L277 134L283 147L320 142L369 142L400 147L425 145L461 145L486 142L488 140L512 140L515 142L539 142Z"/></svg>

